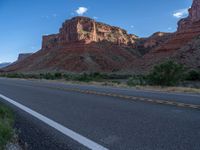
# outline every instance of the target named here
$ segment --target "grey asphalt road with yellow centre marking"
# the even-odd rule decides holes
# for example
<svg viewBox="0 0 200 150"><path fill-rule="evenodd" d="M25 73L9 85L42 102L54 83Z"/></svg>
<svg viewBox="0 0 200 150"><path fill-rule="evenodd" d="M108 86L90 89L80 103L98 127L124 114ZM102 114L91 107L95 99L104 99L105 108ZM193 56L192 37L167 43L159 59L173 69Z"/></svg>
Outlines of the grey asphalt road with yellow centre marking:
<svg viewBox="0 0 200 150"><path fill-rule="evenodd" d="M0 78L0 94L103 148L200 149L200 95L3 78ZM39 130L41 136L35 135L38 140L50 134L53 140L45 138L45 141L62 145L57 149L87 149L35 117L18 111L28 120L24 125L33 122L30 130ZM44 147L37 145L37 149Z"/></svg>

